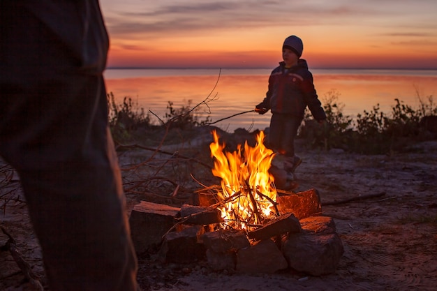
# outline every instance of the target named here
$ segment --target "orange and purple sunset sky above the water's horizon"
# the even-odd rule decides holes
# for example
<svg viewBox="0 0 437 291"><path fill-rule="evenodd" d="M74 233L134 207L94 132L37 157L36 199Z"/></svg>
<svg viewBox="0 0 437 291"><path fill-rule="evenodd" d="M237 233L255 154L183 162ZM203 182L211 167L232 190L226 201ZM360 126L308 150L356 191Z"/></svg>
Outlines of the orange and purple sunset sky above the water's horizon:
<svg viewBox="0 0 437 291"><path fill-rule="evenodd" d="M101 0L108 68L437 69L437 0Z"/></svg>

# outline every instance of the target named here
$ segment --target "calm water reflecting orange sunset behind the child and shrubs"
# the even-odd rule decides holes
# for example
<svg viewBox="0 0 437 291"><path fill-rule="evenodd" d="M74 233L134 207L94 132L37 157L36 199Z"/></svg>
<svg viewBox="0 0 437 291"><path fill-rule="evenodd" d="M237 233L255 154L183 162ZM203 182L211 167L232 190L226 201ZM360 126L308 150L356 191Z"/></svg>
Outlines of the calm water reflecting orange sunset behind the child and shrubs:
<svg viewBox="0 0 437 291"><path fill-rule="evenodd" d="M168 112L168 101L179 108L188 105L188 100L191 105L198 105L208 99L199 112L216 121L253 110L265 97L271 70L108 69L105 78L108 92L114 94L118 103L125 96L131 97L139 107L162 119ZM428 100L427 96L434 96L437 103L437 70L313 69L311 72L322 103L334 90L337 102L344 105L343 113L351 117L370 111L377 104L389 114L395 98L414 108L420 104L418 96L424 101ZM264 129L270 117L270 113L247 113L215 125L230 132L236 128Z"/></svg>

